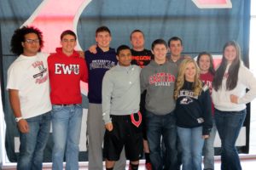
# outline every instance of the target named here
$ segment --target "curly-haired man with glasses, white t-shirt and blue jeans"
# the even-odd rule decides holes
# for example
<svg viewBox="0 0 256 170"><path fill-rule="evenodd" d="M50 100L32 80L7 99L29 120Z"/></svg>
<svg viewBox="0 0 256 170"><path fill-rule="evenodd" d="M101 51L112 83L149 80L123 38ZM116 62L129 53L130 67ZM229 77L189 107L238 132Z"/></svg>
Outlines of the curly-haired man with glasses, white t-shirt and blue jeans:
<svg viewBox="0 0 256 170"><path fill-rule="evenodd" d="M20 55L8 70L7 89L20 132L18 170L41 170L44 148L49 137L50 110L48 54L42 32L24 26L15 31L11 50Z"/></svg>

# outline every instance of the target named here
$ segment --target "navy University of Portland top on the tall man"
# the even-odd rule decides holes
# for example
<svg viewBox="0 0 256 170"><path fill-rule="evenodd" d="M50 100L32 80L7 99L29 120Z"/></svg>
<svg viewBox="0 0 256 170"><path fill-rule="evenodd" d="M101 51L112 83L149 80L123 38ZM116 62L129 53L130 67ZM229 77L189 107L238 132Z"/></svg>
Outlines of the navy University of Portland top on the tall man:
<svg viewBox="0 0 256 170"><path fill-rule="evenodd" d="M97 53L92 54L85 51L85 60L88 68L88 99L90 103L102 104L102 79L105 72L117 64L114 48L109 48L103 52L101 48L96 48Z"/></svg>

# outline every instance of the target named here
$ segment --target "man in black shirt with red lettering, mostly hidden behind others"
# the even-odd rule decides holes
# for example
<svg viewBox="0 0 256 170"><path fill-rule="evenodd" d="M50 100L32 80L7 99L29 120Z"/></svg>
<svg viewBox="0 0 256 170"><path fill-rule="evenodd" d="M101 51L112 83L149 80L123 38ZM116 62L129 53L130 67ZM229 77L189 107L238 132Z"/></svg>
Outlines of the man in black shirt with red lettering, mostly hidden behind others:
<svg viewBox="0 0 256 170"><path fill-rule="evenodd" d="M143 31L140 30L134 30L131 31L130 35L131 40L131 55L132 60L131 64L133 65L139 65L141 68L148 65L150 60L152 59L152 53L150 50L144 48L144 34ZM140 111L143 114L143 117L145 117L145 97L146 97L146 91L143 92L141 95L141 103L140 103ZM146 122L143 118L143 150L145 153L145 160L146 160L146 169L151 170L152 166L150 163L149 158L149 148L148 148L148 140L147 140L147 131L146 131Z"/></svg>

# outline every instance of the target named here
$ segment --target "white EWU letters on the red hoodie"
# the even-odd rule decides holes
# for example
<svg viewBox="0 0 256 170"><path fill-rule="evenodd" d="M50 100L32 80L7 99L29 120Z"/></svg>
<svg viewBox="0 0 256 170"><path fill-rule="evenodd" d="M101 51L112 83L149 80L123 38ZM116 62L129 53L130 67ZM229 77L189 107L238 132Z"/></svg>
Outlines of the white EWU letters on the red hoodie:
<svg viewBox="0 0 256 170"><path fill-rule="evenodd" d="M70 75L70 74L75 74L79 75L79 66L80 65L65 65L65 64L60 64L56 63L55 64L55 74L65 74L65 75Z"/></svg>

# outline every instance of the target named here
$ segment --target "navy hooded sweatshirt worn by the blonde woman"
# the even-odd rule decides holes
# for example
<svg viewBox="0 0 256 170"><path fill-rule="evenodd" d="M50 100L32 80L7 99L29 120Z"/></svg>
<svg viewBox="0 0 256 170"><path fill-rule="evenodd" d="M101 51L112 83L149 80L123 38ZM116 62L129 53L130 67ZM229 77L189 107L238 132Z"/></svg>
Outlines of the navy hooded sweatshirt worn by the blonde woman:
<svg viewBox="0 0 256 170"><path fill-rule="evenodd" d="M193 92L194 82L184 82L183 88L177 96L175 114L177 127L203 127L203 135L209 134L212 129L212 103L207 85L198 96Z"/></svg>

